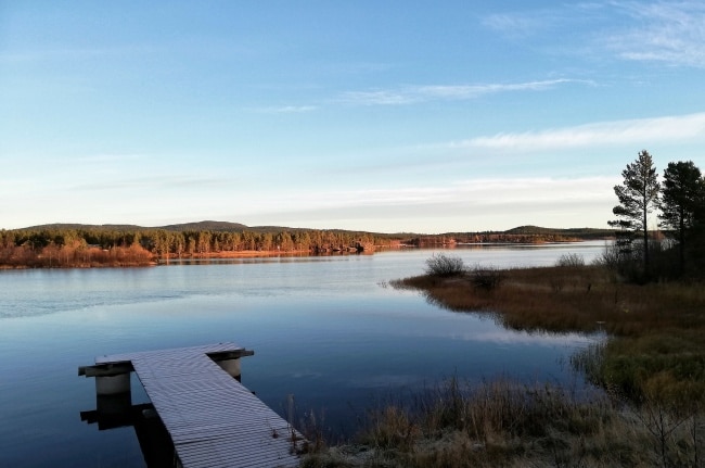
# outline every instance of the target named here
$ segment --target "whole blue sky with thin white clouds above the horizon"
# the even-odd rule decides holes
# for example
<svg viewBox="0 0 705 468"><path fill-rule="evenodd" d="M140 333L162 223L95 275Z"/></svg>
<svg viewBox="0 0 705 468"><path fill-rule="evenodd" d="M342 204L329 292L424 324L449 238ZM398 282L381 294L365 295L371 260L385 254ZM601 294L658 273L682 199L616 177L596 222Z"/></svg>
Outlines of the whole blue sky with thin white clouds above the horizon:
<svg viewBox="0 0 705 468"><path fill-rule="evenodd" d="M702 0L0 0L0 228L601 228L642 149L705 169Z"/></svg>

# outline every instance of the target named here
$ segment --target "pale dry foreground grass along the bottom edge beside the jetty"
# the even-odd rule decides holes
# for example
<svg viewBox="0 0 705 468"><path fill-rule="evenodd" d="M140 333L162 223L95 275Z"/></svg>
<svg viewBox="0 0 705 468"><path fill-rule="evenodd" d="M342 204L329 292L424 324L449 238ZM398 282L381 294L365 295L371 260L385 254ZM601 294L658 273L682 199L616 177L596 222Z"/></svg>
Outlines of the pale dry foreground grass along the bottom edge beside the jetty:
<svg viewBox="0 0 705 468"><path fill-rule="evenodd" d="M698 466L695 416L659 416L670 417L634 413L605 395L577 399L552 385L500 380L473 387L450 379L406 404L370 412L355 444L310 454L302 466Z"/></svg>

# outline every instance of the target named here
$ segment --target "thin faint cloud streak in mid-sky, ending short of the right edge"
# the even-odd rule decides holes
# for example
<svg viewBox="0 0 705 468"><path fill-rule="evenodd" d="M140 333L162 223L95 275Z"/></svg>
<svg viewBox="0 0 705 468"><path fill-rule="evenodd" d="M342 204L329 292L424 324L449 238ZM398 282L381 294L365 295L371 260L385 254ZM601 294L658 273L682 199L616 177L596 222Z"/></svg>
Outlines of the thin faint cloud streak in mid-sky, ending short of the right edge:
<svg viewBox="0 0 705 468"><path fill-rule="evenodd" d="M560 78L508 84L407 86L398 89L348 91L337 102L351 105L403 105L435 100L461 101L500 92L542 91L566 84L594 85L588 80Z"/></svg>

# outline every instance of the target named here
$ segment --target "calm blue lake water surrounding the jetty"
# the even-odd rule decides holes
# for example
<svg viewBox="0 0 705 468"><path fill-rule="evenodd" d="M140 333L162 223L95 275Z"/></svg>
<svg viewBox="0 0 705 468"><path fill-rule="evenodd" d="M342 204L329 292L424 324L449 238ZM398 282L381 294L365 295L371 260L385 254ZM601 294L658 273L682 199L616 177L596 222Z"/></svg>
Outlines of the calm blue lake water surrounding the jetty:
<svg viewBox="0 0 705 468"><path fill-rule="evenodd" d="M466 265L586 262L604 242L447 251ZM585 385L567 365L597 338L508 331L387 282L423 274L438 251L248 258L149 268L0 271L0 466L142 467L131 428L99 431L97 355L234 341L242 382L282 416L313 412L334 432L382 400L444 378ZM132 379L133 403L148 402Z"/></svg>

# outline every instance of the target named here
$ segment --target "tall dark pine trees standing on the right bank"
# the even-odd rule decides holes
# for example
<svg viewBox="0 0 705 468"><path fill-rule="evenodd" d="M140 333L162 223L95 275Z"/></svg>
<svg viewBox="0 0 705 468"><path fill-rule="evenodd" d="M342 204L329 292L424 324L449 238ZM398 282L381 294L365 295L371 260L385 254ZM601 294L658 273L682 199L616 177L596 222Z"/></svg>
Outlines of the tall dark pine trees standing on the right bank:
<svg viewBox="0 0 705 468"><path fill-rule="evenodd" d="M653 157L642 150L621 172L613 208L617 228L614 265L632 279L702 276L705 267L705 178L692 161L668 163L658 177ZM653 213L668 242L654 242Z"/></svg>

